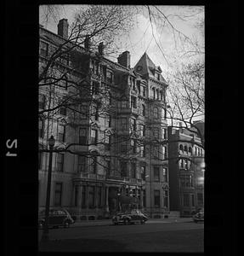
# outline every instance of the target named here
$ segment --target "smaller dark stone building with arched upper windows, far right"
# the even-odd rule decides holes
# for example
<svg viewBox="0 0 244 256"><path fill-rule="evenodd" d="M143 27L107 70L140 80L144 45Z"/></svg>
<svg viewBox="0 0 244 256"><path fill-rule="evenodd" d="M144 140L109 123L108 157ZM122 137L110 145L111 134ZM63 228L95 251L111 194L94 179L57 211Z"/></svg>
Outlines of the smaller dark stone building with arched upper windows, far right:
<svg viewBox="0 0 244 256"><path fill-rule="evenodd" d="M172 126L168 126L167 131L170 211L189 217L204 207L204 170L201 167L204 149L196 133Z"/></svg>

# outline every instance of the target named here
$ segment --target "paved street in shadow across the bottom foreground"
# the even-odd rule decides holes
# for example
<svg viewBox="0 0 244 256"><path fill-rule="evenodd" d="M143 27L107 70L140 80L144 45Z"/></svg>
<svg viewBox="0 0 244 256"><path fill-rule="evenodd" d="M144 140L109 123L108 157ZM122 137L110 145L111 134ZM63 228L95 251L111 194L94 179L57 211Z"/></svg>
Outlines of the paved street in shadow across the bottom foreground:
<svg viewBox="0 0 244 256"><path fill-rule="evenodd" d="M39 238L42 231L39 231ZM119 225L77 224L50 230L40 251L56 252L203 252L204 224L191 221L149 221Z"/></svg>

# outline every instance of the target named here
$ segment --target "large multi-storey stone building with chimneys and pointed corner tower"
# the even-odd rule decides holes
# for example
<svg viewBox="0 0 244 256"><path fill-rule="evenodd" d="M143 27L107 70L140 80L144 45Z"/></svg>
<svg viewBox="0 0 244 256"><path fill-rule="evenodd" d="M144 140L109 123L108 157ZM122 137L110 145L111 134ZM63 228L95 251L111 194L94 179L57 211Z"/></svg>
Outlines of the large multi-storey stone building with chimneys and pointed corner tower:
<svg viewBox="0 0 244 256"><path fill-rule="evenodd" d="M114 62L104 57L102 43L97 52L89 38L73 44L65 19L58 34L40 26L39 35L39 208L45 207L45 150L53 135L50 207L65 207L77 220L106 218L128 207L157 218L168 214L162 146L167 83L161 68L146 53L131 68L128 51Z"/></svg>

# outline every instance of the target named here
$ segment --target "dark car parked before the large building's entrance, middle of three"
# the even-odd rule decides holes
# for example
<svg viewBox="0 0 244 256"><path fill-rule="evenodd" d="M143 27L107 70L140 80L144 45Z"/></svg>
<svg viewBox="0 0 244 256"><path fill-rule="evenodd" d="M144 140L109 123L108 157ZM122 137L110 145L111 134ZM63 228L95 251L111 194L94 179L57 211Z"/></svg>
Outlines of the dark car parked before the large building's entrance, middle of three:
<svg viewBox="0 0 244 256"><path fill-rule="evenodd" d="M112 218L113 224L145 224L148 217L139 210L132 210L131 212L117 212Z"/></svg>

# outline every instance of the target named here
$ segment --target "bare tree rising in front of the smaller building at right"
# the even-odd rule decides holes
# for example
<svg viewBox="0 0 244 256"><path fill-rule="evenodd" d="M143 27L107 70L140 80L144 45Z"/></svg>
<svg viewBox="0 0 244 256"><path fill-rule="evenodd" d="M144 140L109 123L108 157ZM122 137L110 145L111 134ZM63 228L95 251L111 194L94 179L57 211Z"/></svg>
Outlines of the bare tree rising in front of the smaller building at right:
<svg viewBox="0 0 244 256"><path fill-rule="evenodd" d="M204 134L195 124L199 117L205 114L205 66L201 61L183 65L172 76L171 87L168 90L167 108L172 126L184 128L201 138L201 147L204 148Z"/></svg>

